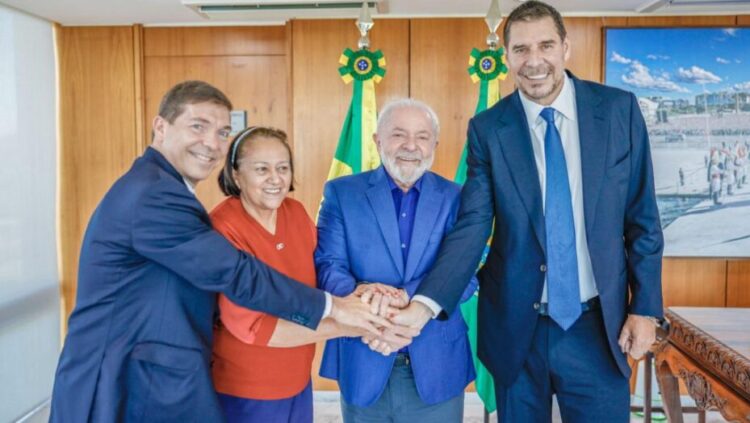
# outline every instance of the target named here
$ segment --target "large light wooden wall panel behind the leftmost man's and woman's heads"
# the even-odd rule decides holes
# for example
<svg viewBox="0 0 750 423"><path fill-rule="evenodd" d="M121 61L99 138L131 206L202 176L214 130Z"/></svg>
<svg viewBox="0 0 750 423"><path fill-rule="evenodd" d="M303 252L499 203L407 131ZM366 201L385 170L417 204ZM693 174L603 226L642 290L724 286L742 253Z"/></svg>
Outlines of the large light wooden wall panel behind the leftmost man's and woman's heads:
<svg viewBox="0 0 750 423"><path fill-rule="evenodd" d="M144 73L147 127L170 87L186 79L200 79L222 90L235 110L246 110L248 125L287 129L285 56L146 57ZM219 170L197 189L198 198L209 211L224 199L216 183Z"/></svg>

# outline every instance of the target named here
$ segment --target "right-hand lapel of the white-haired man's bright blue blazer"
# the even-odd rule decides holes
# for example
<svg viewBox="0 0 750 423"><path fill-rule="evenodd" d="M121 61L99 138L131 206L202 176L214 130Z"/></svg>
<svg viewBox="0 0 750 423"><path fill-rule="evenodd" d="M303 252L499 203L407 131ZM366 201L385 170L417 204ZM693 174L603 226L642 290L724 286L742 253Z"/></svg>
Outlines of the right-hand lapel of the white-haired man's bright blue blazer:
<svg viewBox="0 0 750 423"><path fill-rule="evenodd" d="M409 255L406 258L404 280L411 280L417 270L417 265L422 260L430 235L435 230L442 202L443 195L437 187L435 176L431 172L426 172L422 177L422 191L419 193L419 202L414 213L414 226Z"/></svg>

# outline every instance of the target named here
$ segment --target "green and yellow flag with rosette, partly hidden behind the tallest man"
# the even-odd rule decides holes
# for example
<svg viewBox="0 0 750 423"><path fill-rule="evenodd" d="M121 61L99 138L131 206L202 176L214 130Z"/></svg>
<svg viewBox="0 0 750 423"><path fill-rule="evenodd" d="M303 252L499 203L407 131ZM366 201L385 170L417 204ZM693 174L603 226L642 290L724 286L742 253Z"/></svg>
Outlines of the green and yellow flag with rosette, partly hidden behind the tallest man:
<svg viewBox="0 0 750 423"><path fill-rule="evenodd" d="M474 83L479 82L479 101L474 114L477 114L500 101L500 81L508 75L508 67L505 65L505 50L500 47L497 50L487 49L479 51L473 49L469 55L469 75ZM456 177L454 180L463 184L466 182L466 155L468 145L464 146L461 160L458 162ZM490 249L490 237L482 255L479 267L484 265L487 253ZM477 379L474 382L477 394L484 403L484 408L492 413L497 409L495 401L495 385L492 375L477 358L477 296L474 295L469 301L461 305L461 314L464 316L466 325L469 327L469 343L474 356L474 368L477 371Z"/></svg>

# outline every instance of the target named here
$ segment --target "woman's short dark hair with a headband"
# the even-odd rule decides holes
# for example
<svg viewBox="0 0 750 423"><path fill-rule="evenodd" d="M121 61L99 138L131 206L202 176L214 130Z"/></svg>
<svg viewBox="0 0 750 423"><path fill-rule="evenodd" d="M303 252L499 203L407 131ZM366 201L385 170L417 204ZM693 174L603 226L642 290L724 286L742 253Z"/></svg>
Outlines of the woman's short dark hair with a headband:
<svg viewBox="0 0 750 423"><path fill-rule="evenodd" d="M268 126L251 126L235 135L232 143L229 145L229 152L227 153L227 158L224 160L224 168L219 173L219 188L224 195L239 197L242 190L234 181L232 171L239 168L239 161L245 154L248 144L259 138L275 138L286 148L286 151L289 153L289 169L292 171L292 183L289 185L289 192L294 191L294 159L292 158L292 148L289 146L286 132Z"/></svg>

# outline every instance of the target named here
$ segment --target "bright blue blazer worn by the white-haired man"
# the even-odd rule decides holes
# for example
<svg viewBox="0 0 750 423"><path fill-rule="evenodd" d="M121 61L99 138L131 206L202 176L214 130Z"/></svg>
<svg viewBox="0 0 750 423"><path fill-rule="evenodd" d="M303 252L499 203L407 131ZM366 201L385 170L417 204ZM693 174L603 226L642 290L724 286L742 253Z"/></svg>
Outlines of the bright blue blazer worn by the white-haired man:
<svg viewBox="0 0 750 423"><path fill-rule="evenodd" d="M380 168L326 184L318 217L315 265L318 285L336 295L354 291L360 281L380 282L414 295L432 267L445 232L458 211L460 188L432 172L422 179L412 245L404 266L396 211L385 170ZM471 275L467 281L472 279ZM476 289L464 292L464 300ZM462 284L462 290L466 284ZM466 324L456 311L429 322L409 346L420 398L434 404L463 392L474 379ZM359 338L328 341L320 375L336 379L344 399L366 407L382 394L396 354L373 352Z"/></svg>

